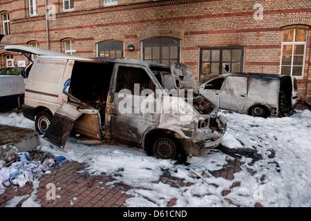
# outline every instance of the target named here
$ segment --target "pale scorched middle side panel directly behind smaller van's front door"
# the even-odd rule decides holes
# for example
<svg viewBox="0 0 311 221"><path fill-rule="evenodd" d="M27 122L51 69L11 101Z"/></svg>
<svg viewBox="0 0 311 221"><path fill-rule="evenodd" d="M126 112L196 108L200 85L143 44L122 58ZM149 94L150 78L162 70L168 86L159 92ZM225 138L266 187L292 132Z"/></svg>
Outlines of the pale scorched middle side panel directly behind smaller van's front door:
<svg viewBox="0 0 311 221"><path fill-rule="evenodd" d="M228 76L220 93L220 108L242 111L247 99L247 77Z"/></svg>

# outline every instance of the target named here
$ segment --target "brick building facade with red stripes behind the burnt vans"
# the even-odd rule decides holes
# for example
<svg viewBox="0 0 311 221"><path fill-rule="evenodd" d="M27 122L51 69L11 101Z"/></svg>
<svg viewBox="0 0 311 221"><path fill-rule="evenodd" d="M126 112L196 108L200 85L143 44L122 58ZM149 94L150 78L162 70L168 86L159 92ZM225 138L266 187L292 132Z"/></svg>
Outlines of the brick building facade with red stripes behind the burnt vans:
<svg viewBox="0 0 311 221"><path fill-rule="evenodd" d="M48 21L45 4L56 13ZM2 44L180 61L196 79L223 72L225 64L294 75L299 95L311 97L310 0L0 0L0 15ZM25 59L3 50L0 56L0 66Z"/></svg>

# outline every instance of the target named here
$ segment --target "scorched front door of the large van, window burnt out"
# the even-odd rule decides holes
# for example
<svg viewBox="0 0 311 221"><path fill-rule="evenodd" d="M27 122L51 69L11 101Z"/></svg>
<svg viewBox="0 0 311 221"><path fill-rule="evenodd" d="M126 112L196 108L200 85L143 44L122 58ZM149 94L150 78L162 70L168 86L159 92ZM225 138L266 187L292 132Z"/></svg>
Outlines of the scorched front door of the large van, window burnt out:
<svg viewBox="0 0 311 221"><path fill-rule="evenodd" d="M146 67L116 64L113 90L106 109L111 137L139 143L147 128L159 124L160 111L156 109L160 108L161 102L154 97L155 89L156 82ZM145 104L147 108L153 106L153 111L144 108Z"/></svg>

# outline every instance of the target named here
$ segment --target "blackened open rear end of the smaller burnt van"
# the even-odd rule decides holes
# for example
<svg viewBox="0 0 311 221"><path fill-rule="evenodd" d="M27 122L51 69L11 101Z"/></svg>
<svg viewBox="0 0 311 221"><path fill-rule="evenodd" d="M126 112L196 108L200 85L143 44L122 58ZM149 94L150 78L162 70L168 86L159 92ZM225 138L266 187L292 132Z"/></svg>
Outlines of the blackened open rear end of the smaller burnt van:
<svg viewBox="0 0 311 221"><path fill-rule="evenodd" d="M292 77L290 76L280 79L279 108L281 115L292 110Z"/></svg>

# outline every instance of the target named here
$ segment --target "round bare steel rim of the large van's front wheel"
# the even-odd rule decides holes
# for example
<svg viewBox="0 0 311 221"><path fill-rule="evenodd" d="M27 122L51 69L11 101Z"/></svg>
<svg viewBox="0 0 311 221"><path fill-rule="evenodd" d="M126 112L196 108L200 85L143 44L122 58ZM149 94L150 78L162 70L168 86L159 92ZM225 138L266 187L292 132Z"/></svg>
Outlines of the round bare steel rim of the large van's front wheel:
<svg viewBox="0 0 311 221"><path fill-rule="evenodd" d="M171 140L162 138L154 144L153 151L157 158L173 159L176 155L176 146Z"/></svg>

